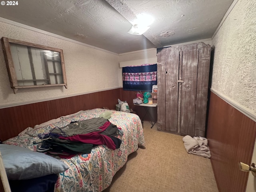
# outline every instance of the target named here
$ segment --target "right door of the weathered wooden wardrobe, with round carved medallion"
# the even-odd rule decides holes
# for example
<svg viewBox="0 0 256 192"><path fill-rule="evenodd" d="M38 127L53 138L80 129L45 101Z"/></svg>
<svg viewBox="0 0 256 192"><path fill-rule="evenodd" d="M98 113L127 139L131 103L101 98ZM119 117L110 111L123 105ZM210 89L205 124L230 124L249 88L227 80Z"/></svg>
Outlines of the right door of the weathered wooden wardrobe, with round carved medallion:
<svg viewBox="0 0 256 192"><path fill-rule="evenodd" d="M182 46L182 83L180 97L180 134L194 136L196 86L198 76L197 44Z"/></svg>

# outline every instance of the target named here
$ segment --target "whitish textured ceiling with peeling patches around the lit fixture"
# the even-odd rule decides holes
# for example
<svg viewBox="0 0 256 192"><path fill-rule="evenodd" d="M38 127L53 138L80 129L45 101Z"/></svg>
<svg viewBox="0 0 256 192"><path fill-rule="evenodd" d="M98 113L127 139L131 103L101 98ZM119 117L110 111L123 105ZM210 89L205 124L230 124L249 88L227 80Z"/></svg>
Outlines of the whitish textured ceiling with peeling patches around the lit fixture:
<svg viewBox="0 0 256 192"><path fill-rule="evenodd" d="M22 0L0 17L115 53L211 38L233 0ZM154 23L127 32L140 13Z"/></svg>

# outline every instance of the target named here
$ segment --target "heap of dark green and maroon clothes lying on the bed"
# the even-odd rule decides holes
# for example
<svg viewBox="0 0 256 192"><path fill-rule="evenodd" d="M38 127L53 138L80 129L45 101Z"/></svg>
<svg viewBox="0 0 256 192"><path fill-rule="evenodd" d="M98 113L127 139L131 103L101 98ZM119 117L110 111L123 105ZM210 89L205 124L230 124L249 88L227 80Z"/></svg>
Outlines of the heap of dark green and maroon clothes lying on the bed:
<svg viewBox="0 0 256 192"><path fill-rule="evenodd" d="M103 117L71 122L62 128L55 127L50 132L38 134L38 152L70 158L78 153L88 154L94 146L105 144L115 150L122 140L117 138L123 131ZM34 143L36 144L36 143Z"/></svg>

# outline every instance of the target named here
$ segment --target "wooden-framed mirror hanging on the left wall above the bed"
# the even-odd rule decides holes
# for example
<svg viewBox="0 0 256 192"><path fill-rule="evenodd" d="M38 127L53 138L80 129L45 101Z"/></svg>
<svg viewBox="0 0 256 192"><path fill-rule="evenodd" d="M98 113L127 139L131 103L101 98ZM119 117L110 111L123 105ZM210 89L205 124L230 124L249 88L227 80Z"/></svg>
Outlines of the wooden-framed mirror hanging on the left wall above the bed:
<svg viewBox="0 0 256 192"><path fill-rule="evenodd" d="M29 42L1 38L11 88L65 86L63 51Z"/></svg>

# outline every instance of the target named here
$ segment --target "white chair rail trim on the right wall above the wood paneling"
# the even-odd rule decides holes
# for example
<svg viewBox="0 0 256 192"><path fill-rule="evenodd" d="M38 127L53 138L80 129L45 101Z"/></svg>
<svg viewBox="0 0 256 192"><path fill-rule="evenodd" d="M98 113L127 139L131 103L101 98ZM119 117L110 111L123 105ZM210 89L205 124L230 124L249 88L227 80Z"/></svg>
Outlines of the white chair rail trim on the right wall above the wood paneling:
<svg viewBox="0 0 256 192"><path fill-rule="evenodd" d="M231 98L225 96L224 94L221 94L220 92L214 90L211 88L211 92L216 94L218 97L220 97L222 100L230 104L232 107L240 111L242 114L246 115L248 118L254 120L256 122L256 114L254 114L251 110L248 108L245 108L244 106L240 105L238 102L232 100Z"/></svg>

